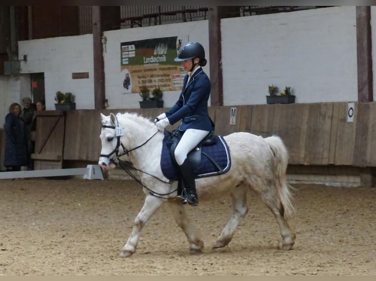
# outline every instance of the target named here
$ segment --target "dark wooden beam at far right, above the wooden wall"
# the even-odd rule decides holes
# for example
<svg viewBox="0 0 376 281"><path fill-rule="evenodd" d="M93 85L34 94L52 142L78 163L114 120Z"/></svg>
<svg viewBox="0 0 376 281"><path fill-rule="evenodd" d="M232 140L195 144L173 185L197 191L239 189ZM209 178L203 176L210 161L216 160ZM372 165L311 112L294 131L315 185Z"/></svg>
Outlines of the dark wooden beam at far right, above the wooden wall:
<svg viewBox="0 0 376 281"><path fill-rule="evenodd" d="M358 62L358 101L373 101L370 6L356 6L356 52Z"/></svg>

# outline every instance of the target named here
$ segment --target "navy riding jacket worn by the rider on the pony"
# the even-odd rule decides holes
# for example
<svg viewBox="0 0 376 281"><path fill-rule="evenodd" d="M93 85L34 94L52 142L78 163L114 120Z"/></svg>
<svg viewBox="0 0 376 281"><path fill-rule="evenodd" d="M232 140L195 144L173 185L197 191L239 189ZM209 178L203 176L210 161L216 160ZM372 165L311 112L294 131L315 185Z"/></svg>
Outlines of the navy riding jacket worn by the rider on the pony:
<svg viewBox="0 0 376 281"><path fill-rule="evenodd" d="M205 131L214 130L214 123L209 117L208 100L211 90L208 75L197 69L189 79L188 74L184 77L182 93L178 101L165 112L171 125L182 120L179 126L180 131L187 129L198 129Z"/></svg>

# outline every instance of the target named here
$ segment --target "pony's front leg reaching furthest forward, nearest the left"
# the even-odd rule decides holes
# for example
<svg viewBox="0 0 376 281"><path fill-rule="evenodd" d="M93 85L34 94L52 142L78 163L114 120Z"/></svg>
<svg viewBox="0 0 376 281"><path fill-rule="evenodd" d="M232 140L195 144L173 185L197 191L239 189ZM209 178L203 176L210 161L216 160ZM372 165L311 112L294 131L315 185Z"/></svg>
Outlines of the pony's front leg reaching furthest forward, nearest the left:
<svg viewBox="0 0 376 281"><path fill-rule="evenodd" d="M127 258L131 257L136 251L138 239L141 235L141 230L145 223L153 215L155 211L161 207L163 199L155 197L153 195L147 195L145 198L144 206L142 206L141 211L137 214L134 220L134 226L131 236L128 238L127 243L124 245L120 257Z"/></svg>

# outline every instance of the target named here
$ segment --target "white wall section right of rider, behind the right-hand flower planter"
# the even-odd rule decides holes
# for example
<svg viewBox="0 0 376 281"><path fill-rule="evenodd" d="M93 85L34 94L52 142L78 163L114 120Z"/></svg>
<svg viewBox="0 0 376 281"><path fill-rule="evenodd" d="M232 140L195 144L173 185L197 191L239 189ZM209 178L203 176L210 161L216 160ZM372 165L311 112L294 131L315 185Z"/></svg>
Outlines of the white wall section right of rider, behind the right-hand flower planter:
<svg viewBox="0 0 376 281"><path fill-rule="evenodd" d="M298 103L358 99L355 6L223 19L221 35L224 105L265 104L271 84Z"/></svg>

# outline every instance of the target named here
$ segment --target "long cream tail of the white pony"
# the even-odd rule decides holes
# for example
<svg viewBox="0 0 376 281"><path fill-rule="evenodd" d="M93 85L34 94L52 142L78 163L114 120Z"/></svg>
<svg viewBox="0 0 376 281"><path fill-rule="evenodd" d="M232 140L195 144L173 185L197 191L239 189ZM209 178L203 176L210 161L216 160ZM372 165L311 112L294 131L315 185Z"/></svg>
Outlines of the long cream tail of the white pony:
<svg viewBox="0 0 376 281"><path fill-rule="evenodd" d="M277 192L283 207L282 215L288 218L295 211L293 204L291 203L292 187L286 180L286 169L287 165L289 164L289 154L281 138L271 136L265 140L269 143L269 146L274 154L275 184L277 186Z"/></svg>

